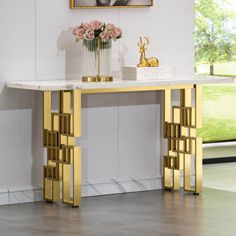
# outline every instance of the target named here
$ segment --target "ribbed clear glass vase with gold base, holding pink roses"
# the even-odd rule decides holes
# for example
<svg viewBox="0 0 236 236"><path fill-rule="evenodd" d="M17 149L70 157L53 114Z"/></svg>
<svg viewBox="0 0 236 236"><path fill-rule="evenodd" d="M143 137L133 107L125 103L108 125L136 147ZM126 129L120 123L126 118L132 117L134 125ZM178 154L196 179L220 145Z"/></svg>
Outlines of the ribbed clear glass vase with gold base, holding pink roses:
<svg viewBox="0 0 236 236"><path fill-rule="evenodd" d="M103 42L100 39L84 40L84 76L83 82L110 82L112 41Z"/></svg>

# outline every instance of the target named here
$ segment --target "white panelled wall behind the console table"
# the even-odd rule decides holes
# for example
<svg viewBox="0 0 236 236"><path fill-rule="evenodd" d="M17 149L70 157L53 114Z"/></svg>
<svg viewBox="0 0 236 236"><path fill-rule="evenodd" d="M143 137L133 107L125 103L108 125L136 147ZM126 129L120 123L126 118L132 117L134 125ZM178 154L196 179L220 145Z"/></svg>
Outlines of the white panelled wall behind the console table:
<svg viewBox="0 0 236 236"><path fill-rule="evenodd" d="M115 75L122 64L137 64L140 35L151 37L150 56L157 55L162 65L171 65L176 74L193 73L193 0L91 10L71 10L68 0L0 0L0 188L41 185L43 164L41 94L6 89L5 82L79 79L81 48L71 28L94 19L118 24L124 32L113 45ZM84 96L83 180L104 183L99 191L85 186L85 195L147 184L131 186L131 179L146 178L158 187L150 179L160 175L160 102L161 93L153 92ZM122 180L128 181L123 187L116 182Z"/></svg>

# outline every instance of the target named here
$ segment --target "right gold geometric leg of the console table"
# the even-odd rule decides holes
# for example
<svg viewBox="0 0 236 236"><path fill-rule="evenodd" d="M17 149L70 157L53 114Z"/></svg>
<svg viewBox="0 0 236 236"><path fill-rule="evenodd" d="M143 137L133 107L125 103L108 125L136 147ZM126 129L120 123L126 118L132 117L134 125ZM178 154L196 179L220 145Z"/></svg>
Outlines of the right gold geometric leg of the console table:
<svg viewBox="0 0 236 236"><path fill-rule="evenodd" d="M192 92L195 105L192 105ZM179 106L172 106L171 90L165 90L164 138L168 152L163 159L165 189L179 189L183 173L185 191L199 194L202 191L202 139L197 129L202 126L201 86L180 90ZM192 176L195 180L192 180Z"/></svg>

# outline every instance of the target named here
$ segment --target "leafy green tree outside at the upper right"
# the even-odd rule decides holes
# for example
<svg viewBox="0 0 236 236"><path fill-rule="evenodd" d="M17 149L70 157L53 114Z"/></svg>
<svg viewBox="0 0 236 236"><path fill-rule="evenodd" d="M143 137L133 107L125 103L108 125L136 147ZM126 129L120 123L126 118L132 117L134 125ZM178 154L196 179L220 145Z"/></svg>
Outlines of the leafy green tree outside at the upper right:
<svg viewBox="0 0 236 236"><path fill-rule="evenodd" d="M210 64L230 61L236 55L235 12L227 0L196 0L195 41L196 63Z"/></svg>

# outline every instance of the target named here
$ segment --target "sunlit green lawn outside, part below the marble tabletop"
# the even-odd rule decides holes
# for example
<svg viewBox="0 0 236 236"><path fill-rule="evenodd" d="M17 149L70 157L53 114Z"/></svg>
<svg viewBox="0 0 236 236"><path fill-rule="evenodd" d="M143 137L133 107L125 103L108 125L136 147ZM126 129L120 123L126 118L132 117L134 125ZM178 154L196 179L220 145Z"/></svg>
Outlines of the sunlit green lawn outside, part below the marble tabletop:
<svg viewBox="0 0 236 236"><path fill-rule="evenodd" d="M203 86L204 142L236 140L236 84Z"/></svg>

